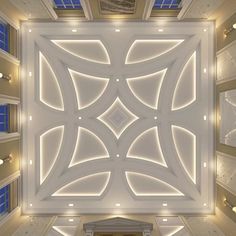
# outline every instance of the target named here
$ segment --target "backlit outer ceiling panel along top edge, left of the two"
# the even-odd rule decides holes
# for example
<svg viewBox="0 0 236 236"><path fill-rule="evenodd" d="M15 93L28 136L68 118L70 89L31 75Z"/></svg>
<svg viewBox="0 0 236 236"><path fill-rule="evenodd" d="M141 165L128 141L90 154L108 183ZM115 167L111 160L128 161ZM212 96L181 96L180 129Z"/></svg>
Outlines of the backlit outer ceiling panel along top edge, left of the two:
<svg viewBox="0 0 236 236"><path fill-rule="evenodd" d="M110 58L101 40L51 40L66 52L87 61L111 64Z"/></svg>

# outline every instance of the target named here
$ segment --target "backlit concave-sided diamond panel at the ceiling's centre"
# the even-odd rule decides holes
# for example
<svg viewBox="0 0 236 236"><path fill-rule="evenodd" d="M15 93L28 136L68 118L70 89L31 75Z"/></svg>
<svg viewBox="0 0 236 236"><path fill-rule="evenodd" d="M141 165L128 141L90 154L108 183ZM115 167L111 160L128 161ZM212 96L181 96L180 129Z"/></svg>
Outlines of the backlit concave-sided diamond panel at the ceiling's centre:
<svg viewBox="0 0 236 236"><path fill-rule="evenodd" d="M116 136L118 139L124 130L138 119L131 111L129 111L119 98L98 117Z"/></svg>

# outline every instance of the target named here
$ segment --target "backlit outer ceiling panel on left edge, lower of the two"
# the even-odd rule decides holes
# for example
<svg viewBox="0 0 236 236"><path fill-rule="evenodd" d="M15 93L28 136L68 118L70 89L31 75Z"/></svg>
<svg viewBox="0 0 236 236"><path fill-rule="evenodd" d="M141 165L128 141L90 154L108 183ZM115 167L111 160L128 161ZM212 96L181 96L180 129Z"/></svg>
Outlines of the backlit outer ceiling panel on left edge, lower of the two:
<svg viewBox="0 0 236 236"><path fill-rule="evenodd" d="M40 184L52 170L61 149L64 126L52 128L40 135Z"/></svg>

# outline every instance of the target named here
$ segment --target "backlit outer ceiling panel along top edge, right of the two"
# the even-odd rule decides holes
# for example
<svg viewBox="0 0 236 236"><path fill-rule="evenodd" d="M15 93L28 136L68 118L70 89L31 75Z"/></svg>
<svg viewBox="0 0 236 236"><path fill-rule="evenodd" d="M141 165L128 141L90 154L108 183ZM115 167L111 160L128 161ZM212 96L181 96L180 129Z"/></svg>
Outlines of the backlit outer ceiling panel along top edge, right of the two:
<svg viewBox="0 0 236 236"><path fill-rule="evenodd" d="M180 39L138 39L133 42L127 53L125 64L145 62L157 58L177 47Z"/></svg>

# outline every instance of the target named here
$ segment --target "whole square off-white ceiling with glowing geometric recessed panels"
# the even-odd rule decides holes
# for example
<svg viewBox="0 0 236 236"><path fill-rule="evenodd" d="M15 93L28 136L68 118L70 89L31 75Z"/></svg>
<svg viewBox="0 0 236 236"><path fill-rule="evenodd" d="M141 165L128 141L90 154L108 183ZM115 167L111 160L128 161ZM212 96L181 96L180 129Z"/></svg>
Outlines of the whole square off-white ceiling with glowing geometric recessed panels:
<svg viewBox="0 0 236 236"><path fill-rule="evenodd" d="M211 213L213 25L79 27L23 24L24 213Z"/></svg>

